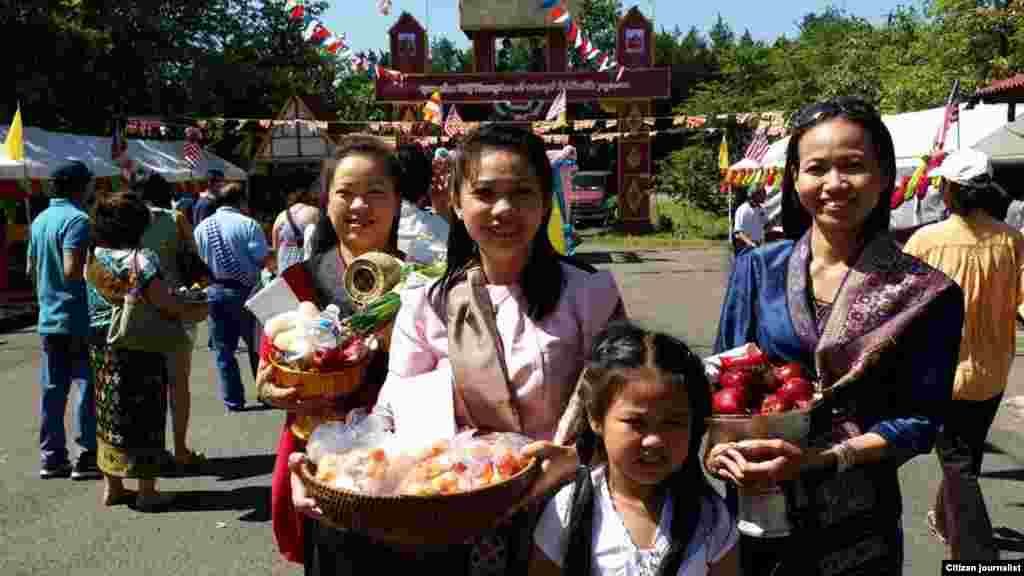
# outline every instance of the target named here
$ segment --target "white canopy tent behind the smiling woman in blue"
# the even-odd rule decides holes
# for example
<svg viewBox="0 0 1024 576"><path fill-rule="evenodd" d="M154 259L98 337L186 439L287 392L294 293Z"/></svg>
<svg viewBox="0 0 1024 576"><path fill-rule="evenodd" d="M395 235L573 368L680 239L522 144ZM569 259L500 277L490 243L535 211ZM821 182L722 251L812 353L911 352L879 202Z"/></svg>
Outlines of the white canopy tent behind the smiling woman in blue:
<svg viewBox="0 0 1024 576"><path fill-rule="evenodd" d="M977 148L979 145L993 149L1001 147L999 154L1005 154L1005 158L1018 157L1024 160L1024 136L1016 138L1008 132L1008 128L1020 124L1018 131L1024 134L1024 119L1020 118L1021 115L1024 115L1024 109L1017 114L1019 120L1008 126L1007 105L978 105L972 110L968 110L967 105L961 105L959 121L949 129L943 150L953 152L961 148ZM882 117L893 136L897 177L910 175L921 165L921 157L931 152L935 134L942 126L944 117L944 107ZM788 137L772 143L762 163L765 166L784 166L788 143ZM776 221L779 217L781 201L781 194L778 193L765 201L765 211L770 221ZM923 200L914 198L893 210L892 228L907 229L941 219L944 209L942 199L936 191L930 190Z"/></svg>

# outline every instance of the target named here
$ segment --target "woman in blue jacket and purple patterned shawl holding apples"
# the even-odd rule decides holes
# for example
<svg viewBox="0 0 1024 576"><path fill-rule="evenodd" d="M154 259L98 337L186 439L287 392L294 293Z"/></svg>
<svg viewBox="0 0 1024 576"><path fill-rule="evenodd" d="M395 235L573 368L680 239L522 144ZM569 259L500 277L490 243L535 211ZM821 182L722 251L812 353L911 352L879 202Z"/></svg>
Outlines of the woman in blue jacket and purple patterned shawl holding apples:
<svg viewBox="0 0 1024 576"><path fill-rule="evenodd" d="M787 240L739 256L716 352L746 342L814 374L825 401L803 449L717 444L711 474L779 483L794 530L744 537L743 573L900 574L897 468L931 451L951 399L964 322L959 288L888 235L892 136L856 98L793 120L782 180Z"/></svg>

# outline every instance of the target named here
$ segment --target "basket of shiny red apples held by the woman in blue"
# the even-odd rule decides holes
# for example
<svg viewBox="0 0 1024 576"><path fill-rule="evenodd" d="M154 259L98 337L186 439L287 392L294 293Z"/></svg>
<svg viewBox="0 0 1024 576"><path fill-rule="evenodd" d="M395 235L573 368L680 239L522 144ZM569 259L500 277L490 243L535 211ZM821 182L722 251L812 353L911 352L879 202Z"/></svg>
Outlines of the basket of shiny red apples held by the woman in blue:
<svg viewBox="0 0 1024 576"><path fill-rule="evenodd" d="M756 344L705 359L714 387L711 442L806 439L815 386L803 366L773 362Z"/></svg>

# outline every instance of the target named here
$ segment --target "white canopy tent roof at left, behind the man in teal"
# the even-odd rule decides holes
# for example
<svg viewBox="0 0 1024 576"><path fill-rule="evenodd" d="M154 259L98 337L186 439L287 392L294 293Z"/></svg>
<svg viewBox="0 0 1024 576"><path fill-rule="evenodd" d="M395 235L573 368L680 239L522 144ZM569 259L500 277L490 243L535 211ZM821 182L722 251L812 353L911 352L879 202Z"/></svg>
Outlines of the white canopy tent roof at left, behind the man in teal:
<svg viewBox="0 0 1024 576"><path fill-rule="evenodd" d="M9 128L9 125L0 126L0 139L7 137ZM0 151L0 179L48 179L53 170L72 160L84 162L96 177L121 173L120 167L111 160L110 137L50 132L32 126L26 126L23 134L25 160L9 160ZM129 158L145 170L164 176L168 181L203 179L207 170L214 168L222 170L225 179L247 178L245 170L208 151L203 152L203 160L196 169L189 168L182 158L182 140L127 141Z"/></svg>

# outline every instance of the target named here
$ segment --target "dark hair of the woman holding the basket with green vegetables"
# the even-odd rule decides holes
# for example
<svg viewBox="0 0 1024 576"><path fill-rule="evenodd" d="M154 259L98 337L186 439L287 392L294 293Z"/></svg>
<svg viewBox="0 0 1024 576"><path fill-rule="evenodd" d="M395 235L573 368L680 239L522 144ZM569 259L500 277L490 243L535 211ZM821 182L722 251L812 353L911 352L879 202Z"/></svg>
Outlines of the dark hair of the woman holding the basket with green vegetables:
<svg viewBox="0 0 1024 576"><path fill-rule="evenodd" d="M338 148L334 158L325 160L321 168L321 217L313 229L312 253L323 254L334 250L339 243L338 232L334 230L334 223L327 213L327 206L331 200L331 186L334 183L334 175L338 170L341 161L349 156L370 156L383 162L384 172L394 180L394 193L398 196L398 186L401 181L401 165L394 151L383 140L373 136L349 136ZM401 217L400 202L396 203L394 210L394 221L391 222L391 235L388 237L387 248L391 252L398 250L398 219Z"/></svg>

